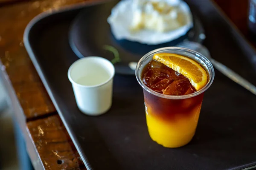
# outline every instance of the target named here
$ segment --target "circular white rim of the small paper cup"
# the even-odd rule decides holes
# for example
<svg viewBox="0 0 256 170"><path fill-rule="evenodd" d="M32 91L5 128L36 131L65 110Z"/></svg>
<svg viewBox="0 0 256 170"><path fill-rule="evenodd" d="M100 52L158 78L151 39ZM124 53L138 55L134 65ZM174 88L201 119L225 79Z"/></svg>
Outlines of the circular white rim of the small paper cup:
<svg viewBox="0 0 256 170"><path fill-rule="evenodd" d="M73 69L74 67L76 67L76 65L78 65L79 62L82 62L82 61L88 60L88 59L101 59L101 60L105 60L106 62L110 63L111 67L113 68L113 73L111 73L111 76L108 78L108 80L106 80L106 81L104 81L104 82L102 82L102 83L100 83L100 84L97 84L97 85L81 85L81 84L77 83L77 82L71 77L71 71L72 71L72 69ZM100 86L102 86L102 85L105 85L105 84L107 84L108 82L110 82L111 79L113 79L114 75L115 75L115 67L114 67L114 65L112 64L112 62L110 62L108 59L105 59L105 58L103 58L103 57L98 57L98 56L88 56L88 57L80 58L80 59L76 60L75 62L73 62L73 63L70 65L70 68L69 68L68 71L67 71L67 77L68 77L68 79L70 80L70 82L71 82L72 84L75 84L75 85L77 85L77 86L84 87L84 88L96 88L96 87L100 87Z"/></svg>

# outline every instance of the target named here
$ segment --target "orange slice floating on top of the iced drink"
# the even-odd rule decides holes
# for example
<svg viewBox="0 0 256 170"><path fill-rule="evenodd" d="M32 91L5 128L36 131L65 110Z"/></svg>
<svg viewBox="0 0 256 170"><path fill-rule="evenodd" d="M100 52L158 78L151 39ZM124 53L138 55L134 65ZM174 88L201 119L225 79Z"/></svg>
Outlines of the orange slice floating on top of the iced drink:
<svg viewBox="0 0 256 170"><path fill-rule="evenodd" d="M154 54L153 59L188 78L196 91L207 84L208 76L204 68L188 57L171 53L158 53Z"/></svg>

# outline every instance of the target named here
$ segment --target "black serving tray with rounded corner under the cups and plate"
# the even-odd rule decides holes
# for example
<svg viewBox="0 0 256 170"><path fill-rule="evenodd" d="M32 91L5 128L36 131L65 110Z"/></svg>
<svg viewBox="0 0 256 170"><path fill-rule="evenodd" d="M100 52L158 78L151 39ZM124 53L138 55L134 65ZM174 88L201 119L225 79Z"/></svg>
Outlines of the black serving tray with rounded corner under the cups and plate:
<svg viewBox="0 0 256 170"><path fill-rule="evenodd" d="M197 9L212 57L256 84L256 52L209 0L186 0ZM102 8L99 5L93 8ZM256 96L218 71L207 90L193 140L164 148L148 136L143 91L134 76L114 77L111 110L85 116L67 78L78 59L68 42L73 6L36 17L24 43L71 139L91 170L220 170L256 167ZM89 17L89 16L88 16Z"/></svg>

